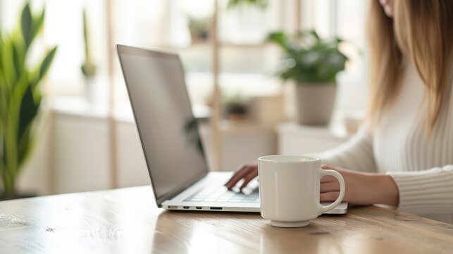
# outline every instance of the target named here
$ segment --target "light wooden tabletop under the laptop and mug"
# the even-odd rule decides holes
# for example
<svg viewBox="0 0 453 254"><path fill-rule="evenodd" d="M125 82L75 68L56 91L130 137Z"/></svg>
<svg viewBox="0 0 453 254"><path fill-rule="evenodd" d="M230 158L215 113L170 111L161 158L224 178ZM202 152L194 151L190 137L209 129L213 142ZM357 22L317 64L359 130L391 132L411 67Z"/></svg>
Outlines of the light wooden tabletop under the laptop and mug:
<svg viewBox="0 0 453 254"><path fill-rule="evenodd" d="M453 225L371 206L283 229L158 209L143 186L0 202L0 253L453 253Z"/></svg>

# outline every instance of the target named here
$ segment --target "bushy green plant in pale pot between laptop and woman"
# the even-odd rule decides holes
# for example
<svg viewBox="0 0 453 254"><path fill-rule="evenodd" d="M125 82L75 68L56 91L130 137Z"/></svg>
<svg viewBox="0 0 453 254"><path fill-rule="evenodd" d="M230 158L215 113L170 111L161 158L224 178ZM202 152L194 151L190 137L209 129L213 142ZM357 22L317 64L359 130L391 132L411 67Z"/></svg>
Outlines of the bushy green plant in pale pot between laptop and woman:
<svg viewBox="0 0 453 254"><path fill-rule="evenodd" d="M300 124L329 123L335 104L337 73L345 69L347 56L338 49L342 40L323 40L314 30L287 35L273 32L268 40L283 49L278 70L283 80L296 83L296 120Z"/></svg>

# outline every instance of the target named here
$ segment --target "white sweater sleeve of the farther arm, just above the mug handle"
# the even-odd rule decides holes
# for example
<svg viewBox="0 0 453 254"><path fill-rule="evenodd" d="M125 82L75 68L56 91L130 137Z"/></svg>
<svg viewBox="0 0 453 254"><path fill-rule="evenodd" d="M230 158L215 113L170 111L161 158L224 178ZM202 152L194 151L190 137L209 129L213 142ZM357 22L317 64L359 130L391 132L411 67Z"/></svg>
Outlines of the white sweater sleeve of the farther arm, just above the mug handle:
<svg viewBox="0 0 453 254"><path fill-rule="evenodd" d="M376 172L373 155L373 136L361 128L346 143L317 154L323 164L362 172Z"/></svg>

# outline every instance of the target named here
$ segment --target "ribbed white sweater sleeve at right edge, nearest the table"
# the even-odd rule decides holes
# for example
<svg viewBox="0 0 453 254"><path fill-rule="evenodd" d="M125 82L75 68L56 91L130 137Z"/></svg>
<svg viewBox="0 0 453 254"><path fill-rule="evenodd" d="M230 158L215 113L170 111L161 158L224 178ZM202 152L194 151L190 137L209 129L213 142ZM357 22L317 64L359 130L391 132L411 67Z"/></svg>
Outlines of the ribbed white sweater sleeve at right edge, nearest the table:
<svg viewBox="0 0 453 254"><path fill-rule="evenodd" d="M453 212L453 165L387 174L397 184L399 210L415 214Z"/></svg>

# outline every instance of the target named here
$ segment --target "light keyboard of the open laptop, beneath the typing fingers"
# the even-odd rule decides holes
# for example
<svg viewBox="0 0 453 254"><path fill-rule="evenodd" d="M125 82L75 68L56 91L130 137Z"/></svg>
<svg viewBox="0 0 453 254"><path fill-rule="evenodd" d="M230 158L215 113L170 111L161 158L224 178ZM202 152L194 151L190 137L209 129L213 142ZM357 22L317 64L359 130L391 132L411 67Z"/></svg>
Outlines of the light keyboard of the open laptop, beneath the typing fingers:
<svg viewBox="0 0 453 254"><path fill-rule="evenodd" d="M253 191L248 195L242 192L229 191L225 186L216 189L200 190L184 201L194 202L242 202L242 203L259 203L258 191Z"/></svg>

